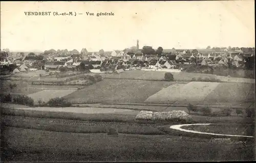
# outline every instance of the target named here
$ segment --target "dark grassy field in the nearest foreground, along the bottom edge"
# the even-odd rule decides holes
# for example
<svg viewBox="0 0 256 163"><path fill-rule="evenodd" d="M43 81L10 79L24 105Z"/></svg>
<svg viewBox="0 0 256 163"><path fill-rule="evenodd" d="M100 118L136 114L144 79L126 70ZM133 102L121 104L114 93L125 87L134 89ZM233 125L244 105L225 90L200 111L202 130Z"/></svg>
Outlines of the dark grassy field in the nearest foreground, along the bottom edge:
<svg viewBox="0 0 256 163"><path fill-rule="evenodd" d="M248 149L169 135L118 137L6 127L5 161L210 161L244 160ZM65 142L65 143L63 143ZM232 151L232 152L230 152ZM243 155L246 154L247 155Z"/></svg>

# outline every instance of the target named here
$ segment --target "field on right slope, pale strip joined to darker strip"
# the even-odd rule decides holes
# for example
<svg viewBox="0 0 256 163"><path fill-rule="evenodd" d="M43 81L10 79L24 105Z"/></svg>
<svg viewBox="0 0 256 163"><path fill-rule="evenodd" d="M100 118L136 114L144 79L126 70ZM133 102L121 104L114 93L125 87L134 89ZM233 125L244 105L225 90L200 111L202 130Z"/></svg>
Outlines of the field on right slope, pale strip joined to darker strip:
<svg viewBox="0 0 256 163"><path fill-rule="evenodd" d="M148 103L239 104L253 102L254 84L190 82L174 84L148 97ZM252 92L252 93L251 93ZM249 101L250 100L250 101Z"/></svg>

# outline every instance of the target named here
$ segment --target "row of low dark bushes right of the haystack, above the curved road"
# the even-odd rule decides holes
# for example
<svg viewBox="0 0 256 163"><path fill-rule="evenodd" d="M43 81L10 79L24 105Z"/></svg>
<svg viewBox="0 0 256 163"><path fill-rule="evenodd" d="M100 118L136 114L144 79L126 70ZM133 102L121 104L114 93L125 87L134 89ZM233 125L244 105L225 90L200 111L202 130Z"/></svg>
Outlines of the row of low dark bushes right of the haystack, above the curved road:
<svg viewBox="0 0 256 163"><path fill-rule="evenodd" d="M187 110L189 113L191 111L196 112L196 113L201 112L204 116L230 116L232 113L231 108L225 108L224 110L222 110L220 112L212 113L209 106L198 108L197 106L190 104L190 103L187 106ZM236 114L237 114L237 116L240 114L243 114L243 111L241 109L236 109ZM255 117L255 110L253 108L247 108L246 115L247 115L247 117Z"/></svg>

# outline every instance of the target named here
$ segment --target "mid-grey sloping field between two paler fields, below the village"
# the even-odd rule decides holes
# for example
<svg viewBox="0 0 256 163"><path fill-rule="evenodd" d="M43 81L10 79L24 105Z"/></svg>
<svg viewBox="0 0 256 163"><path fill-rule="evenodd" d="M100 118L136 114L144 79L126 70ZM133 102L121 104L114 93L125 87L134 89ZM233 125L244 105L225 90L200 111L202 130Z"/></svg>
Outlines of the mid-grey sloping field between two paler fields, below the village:
<svg viewBox="0 0 256 163"><path fill-rule="evenodd" d="M103 79L65 96L65 99L73 103L142 102L148 96L172 84L172 82Z"/></svg>

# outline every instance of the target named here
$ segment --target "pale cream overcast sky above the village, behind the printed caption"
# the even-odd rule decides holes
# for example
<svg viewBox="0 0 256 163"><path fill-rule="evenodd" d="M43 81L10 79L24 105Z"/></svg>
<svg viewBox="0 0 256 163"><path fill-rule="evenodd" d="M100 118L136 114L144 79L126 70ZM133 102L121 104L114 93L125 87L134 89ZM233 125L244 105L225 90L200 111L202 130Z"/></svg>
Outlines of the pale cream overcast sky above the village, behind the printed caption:
<svg viewBox="0 0 256 163"><path fill-rule="evenodd" d="M51 11L51 16L26 16ZM53 16L53 12L83 13ZM114 16L87 16L113 12ZM254 1L1 2L1 49L254 47Z"/></svg>

